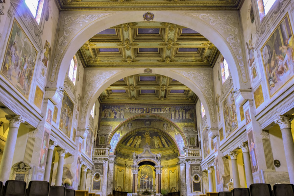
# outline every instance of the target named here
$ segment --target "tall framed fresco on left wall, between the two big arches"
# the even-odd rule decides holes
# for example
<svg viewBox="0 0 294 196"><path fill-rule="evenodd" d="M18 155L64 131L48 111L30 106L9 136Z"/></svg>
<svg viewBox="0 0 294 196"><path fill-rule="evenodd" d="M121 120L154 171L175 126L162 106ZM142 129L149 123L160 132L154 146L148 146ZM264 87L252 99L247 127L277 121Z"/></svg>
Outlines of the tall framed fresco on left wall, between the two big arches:
<svg viewBox="0 0 294 196"><path fill-rule="evenodd" d="M61 105L59 128L68 136L71 134L73 122L73 101L68 94L64 92Z"/></svg>

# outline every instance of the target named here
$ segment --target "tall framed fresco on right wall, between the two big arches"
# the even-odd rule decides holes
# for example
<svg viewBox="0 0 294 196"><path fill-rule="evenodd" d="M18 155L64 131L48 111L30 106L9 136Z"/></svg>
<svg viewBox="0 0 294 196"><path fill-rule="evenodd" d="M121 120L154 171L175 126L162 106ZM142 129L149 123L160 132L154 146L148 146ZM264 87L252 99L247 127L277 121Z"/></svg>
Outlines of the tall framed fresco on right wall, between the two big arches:
<svg viewBox="0 0 294 196"><path fill-rule="evenodd" d="M228 137L237 127L237 112L233 89L222 103L225 134Z"/></svg>

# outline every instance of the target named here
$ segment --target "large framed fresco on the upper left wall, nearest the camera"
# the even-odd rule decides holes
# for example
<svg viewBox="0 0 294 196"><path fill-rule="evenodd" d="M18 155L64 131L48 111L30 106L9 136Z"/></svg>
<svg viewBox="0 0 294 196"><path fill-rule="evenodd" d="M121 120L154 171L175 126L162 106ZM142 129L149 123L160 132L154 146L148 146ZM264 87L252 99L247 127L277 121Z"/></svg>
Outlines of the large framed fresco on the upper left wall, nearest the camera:
<svg viewBox="0 0 294 196"><path fill-rule="evenodd" d="M28 99L37 50L16 20L13 21L1 74Z"/></svg>

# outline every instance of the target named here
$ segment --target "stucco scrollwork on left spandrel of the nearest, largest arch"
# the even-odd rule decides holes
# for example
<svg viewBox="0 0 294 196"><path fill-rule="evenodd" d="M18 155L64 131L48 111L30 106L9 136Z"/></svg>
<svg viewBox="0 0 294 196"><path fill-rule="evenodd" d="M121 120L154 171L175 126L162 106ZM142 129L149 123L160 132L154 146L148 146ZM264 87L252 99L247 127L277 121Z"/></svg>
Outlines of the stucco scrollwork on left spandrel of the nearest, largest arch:
<svg viewBox="0 0 294 196"><path fill-rule="evenodd" d="M67 48L69 41L86 25L101 19L112 13L101 13L101 14L69 14L63 15L61 19L60 29L61 33L58 36L57 48L54 53L54 61L50 74L50 81L55 81L55 73L57 72L58 62L61 59L62 53ZM62 32L63 31L63 32Z"/></svg>

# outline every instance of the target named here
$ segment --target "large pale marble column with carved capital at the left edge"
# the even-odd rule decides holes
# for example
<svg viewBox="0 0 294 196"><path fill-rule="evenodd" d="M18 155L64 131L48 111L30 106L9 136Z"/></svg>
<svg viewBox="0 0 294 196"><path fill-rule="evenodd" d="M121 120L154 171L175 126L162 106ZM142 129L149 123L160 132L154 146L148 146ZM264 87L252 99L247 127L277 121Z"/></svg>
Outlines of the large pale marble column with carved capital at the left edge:
<svg viewBox="0 0 294 196"><path fill-rule="evenodd" d="M5 117L9 121L9 131L0 164L0 181L4 184L9 179L20 124L25 123L25 120L19 115L6 115Z"/></svg>

